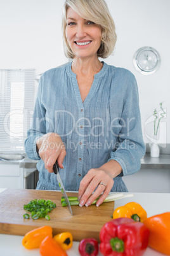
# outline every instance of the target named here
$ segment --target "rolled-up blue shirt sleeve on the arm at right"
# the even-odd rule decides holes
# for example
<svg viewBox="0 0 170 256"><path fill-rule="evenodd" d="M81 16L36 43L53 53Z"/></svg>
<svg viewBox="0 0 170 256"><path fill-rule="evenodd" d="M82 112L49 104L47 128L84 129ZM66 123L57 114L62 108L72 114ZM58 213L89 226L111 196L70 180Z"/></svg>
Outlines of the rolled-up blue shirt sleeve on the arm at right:
<svg viewBox="0 0 170 256"><path fill-rule="evenodd" d="M116 160L122 167L119 176L126 176L140 170L141 157L145 154L145 143L141 131L138 87L131 76L124 97L122 115L119 120L121 132L117 138L117 147L110 153L110 159Z"/></svg>

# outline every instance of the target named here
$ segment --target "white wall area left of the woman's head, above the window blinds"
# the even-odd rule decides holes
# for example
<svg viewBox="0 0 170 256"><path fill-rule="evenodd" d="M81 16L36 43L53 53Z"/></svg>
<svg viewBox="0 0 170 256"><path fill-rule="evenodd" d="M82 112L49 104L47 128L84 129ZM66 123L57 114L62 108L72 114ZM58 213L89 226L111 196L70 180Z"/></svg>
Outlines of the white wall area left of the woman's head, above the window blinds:
<svg viewBox="0 0 170 256"><path fill-rule="evenodd" d="M36 68L37 74L67 59L62 52L64 0L0 0L0 68Z"/></svg>

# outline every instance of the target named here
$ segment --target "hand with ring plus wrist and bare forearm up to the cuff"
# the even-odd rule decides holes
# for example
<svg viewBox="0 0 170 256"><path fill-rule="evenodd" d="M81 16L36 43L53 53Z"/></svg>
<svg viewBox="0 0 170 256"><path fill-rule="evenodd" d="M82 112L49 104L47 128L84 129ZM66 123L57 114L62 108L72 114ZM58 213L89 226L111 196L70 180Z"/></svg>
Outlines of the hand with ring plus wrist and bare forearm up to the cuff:
<svg viewBox="0 0 170 256"><path fill-rule="evenodd" d="M100 199L96 202L96 206L100 206L110 193L114 185L114 178L121 172L122 167L115 160L108 161L100 168L90 169L80 183L78 194L79 206L84 206L84 204L89 206L103 192Z"/></svg>

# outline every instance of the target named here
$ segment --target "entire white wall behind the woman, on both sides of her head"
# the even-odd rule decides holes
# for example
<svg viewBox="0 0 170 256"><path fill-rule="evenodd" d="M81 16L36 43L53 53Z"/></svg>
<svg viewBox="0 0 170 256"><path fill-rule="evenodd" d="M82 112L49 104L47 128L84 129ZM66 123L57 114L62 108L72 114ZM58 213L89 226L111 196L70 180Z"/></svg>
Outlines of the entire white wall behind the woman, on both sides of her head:
<svg viewBox="0 0 170 256"><path fill-rule="evenodd" d="M117 44L108 64L129 69L140 92L142 126L163 102L167 110L163 137L170 143L170 1L106 0L115 20ZM0 0L0 68L36 68L37 75L67 62L62 52L61 17L64 0ZM142 46L160 54L153 75L133 67L133 55ZM148 133L153 131L153 125ZM143 132L145 142L149 142Z"/></svg>

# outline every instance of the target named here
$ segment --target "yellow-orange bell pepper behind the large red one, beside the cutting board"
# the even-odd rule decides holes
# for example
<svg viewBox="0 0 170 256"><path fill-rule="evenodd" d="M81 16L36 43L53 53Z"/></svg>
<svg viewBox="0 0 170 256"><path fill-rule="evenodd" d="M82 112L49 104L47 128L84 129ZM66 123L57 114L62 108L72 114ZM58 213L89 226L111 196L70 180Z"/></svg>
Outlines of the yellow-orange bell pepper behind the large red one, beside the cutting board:
<svg viewBox="0 0 170 256"><path fill-rule="evenodd" d="M140 204L131 202L114 210L113 218L132 218L135 222L143 222L147 218L145 211Z"/></svg>

